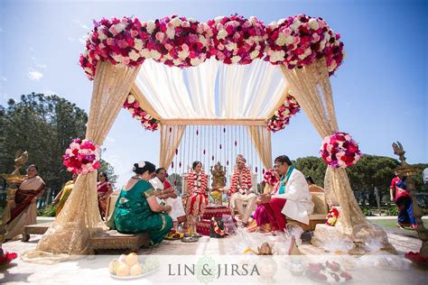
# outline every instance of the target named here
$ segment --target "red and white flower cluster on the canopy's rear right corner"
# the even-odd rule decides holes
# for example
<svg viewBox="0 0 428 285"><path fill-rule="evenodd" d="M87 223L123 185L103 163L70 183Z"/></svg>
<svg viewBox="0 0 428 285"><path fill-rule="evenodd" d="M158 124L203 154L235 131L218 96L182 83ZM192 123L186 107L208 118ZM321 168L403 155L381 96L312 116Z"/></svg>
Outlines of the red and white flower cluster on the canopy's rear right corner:
<svg viewBox="0 0 428 285"><path fill-rule="evenodd" d="M284 104L274 112L274 115L267 122L267 129L271 132L278 132L290 123L290 117L300 111L300 105L290 93L285 98Z"/></svg>

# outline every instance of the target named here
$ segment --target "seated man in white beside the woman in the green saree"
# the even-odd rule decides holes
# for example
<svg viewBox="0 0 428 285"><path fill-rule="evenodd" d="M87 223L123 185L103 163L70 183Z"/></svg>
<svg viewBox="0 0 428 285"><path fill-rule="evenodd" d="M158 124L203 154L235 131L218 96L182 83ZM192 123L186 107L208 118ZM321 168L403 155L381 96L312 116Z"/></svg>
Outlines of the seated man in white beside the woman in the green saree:
<svg viewBox="0 0 428 285"><path fill-rule="evenodd" d="M186 221L186 213L182 206L182 199L175 193L174 188L166 179L167 173L164 168L156 170L156 177L150 180L150 183L155 189L160 189L161 193L156 197L159 198L158 202L172 207L171 212L168 214L172 217L174 227Z"/></svg>

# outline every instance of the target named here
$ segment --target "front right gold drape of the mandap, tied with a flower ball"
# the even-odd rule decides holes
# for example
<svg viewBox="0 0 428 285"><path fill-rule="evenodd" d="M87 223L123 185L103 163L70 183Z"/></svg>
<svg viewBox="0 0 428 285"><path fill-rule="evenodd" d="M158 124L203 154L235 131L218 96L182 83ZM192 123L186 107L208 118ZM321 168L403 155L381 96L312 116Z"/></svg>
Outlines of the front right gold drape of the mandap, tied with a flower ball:
<svg viewBox="0 0 428 285"><path fill-rule="evenodd" d="M333 97L331 92L329 73L325 60L317 60L312 65L302 69L287 69L281 66L284 78L290 85L291 93L321 137L324 138L338 131ZM340 217L336 229L340 234L353 238L358 236L358 242L367 242L369 238L377 236L379 241L387 246L386 233L374 228L368 223L358 206L350 188L349 178L345 169L333 170L328 167L325 175L326 194L333 204L340 205ZM365 229L366 234L356 234L356 229ZM316 235L316 233L315 233ZM386 240L386 244L385 244Z"/></svg>

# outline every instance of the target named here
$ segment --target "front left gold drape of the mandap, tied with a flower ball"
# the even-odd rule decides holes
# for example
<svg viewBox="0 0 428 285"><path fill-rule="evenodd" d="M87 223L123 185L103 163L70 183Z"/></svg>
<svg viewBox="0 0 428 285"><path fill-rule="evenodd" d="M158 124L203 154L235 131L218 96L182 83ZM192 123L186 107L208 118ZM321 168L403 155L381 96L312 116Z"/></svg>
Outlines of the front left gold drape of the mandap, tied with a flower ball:
<svg viewBox="0 0 428 285"><path fill-rule="evenodd" d="M101 145L129 94L139 67L99 62L95 77L86 138ZM91 234L107 230L98 210L97 171L79 175L70 198L43 234L36 250L23 254L28 262L52 263L88 253Z"/></svg>

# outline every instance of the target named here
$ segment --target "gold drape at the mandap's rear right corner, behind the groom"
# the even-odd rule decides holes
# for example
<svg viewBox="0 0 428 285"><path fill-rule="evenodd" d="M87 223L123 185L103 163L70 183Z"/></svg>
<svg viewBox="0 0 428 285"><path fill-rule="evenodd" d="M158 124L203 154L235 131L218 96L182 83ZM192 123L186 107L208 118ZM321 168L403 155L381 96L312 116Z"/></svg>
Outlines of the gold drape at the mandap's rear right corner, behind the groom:
<svg viewBox="0 0 428 285"><path fill-rule="evenodd" d="M265 125L249 125L247 131L251 137L256 152L265 166L265 170L272 169L271 132Z"/></svg>

